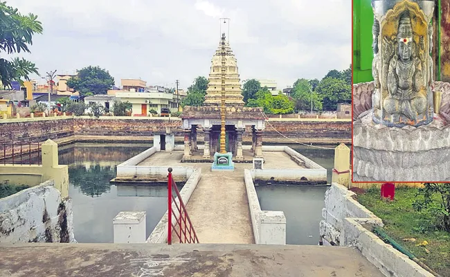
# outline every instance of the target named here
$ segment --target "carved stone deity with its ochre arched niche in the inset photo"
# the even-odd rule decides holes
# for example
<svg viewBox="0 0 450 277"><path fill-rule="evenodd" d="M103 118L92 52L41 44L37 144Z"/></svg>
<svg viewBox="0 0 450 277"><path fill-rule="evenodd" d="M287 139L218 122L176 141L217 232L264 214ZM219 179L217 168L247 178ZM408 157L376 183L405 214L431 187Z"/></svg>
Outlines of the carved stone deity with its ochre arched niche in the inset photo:
<svg viewBox="0 0 450 277"><path fill-rule="evenodd" d="M397 3L386 16L375 17L372 35L375 123L390 127L431 123L432 29L424 12L417 3Z"/></svg>

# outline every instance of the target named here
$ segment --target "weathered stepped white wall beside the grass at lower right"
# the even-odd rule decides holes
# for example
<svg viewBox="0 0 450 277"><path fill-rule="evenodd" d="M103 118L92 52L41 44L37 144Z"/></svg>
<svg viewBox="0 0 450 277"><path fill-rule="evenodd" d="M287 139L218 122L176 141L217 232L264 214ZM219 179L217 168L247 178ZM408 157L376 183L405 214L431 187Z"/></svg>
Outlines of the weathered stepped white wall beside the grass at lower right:
<svg viewBox="0 0 450 277"><path fill-rule="evenodd" d="M379 217L353 199L345 186L332 184L325 193L325 208L320 224L324 242L356 247L384 275L395 277L431 277L433 274L417 265L408 256L386 244L365 228L383 226Z"/></svg>

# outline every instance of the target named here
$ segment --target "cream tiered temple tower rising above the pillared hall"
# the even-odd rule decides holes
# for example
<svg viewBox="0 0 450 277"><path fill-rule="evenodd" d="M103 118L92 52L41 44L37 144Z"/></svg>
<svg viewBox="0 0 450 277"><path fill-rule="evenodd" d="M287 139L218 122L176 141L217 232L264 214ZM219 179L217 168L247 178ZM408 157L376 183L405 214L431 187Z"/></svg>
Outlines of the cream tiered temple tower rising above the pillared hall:
<svg viewBox="0 0 450 277"><path fill-rule="evenodd" d="M209 73L208 89L206 89L205 106L220 106L222 98L222 60L221 48L219 45L211 60L211 70ZM225 43L225 97L226 105L230 106L244 106L244 96L242 96L242 89L240 84L239 72L237 71L237 60L231 50L228 42Z"/></svg>

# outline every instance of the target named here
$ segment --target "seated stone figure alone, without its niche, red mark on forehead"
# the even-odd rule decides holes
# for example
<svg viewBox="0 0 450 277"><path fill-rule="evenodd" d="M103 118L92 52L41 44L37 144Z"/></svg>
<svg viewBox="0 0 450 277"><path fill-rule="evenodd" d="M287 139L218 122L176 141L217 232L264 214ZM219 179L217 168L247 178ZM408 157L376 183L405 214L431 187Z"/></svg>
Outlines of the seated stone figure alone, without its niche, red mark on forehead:
<svg viewBox="0 0 450 277"><path fill-rule="evenodd" d="M397 49L390 44L390 51L397 51L388 67L389 96L384 99L383 107L391 122L406 123L411 120L415 124L425 119L427 100L421 61L414 53L413 28L407 12L399 19L395 44Z"/></svg>

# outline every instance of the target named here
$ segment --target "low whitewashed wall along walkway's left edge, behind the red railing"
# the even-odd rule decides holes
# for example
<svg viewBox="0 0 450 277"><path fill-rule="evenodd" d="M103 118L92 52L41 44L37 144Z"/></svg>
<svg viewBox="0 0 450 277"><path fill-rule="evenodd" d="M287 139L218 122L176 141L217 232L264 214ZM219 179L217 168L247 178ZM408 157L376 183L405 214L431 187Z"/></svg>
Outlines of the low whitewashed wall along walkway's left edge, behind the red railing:
<svg viewBox="0 0 450 277"><path fill-rule="evenodd" d="M165 168L165 171L167 172L167 168ZM173 173L173 172L172 172ZM192 175L190 175L188 181L186 181L186 184L184 184L183 188L180 191L181 199L183 199L183 203L187 206L189 199L194 192L195 188L197 188L197 184L199 184L199 181L201 179L201 169L197 168L192 172ZM179 199L175 199L175 202L179 205ZM172 222L175 222L175 216L178 216L178 209L175 203L172 203L172 212L174 215L172 215ZM163 217L161 220L156 224L154 227L152 233L147 238L147 243L167 243L168 239L168 211L165 211ZM195 229L195 226L194 226Z"/></svg>

